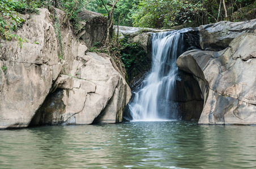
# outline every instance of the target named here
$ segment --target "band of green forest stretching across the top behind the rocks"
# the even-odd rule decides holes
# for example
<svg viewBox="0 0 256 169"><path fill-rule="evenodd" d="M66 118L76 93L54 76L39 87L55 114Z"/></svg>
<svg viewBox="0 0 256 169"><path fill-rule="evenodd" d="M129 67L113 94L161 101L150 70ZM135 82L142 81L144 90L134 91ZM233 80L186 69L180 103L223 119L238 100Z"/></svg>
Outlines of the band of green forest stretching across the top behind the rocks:
<svg viewBox="0 0 256 169"><path fill-rule="evenodd" d="M113 2L112 2L113 1ZM72 23L79 20L83 8L109 15L114 2L113 23L123 26L173 28L199 26L221 20L241 21L256 16L255 0L1 0L0 19L16 12L33 12L42 6L65 10ZM8 14L8 11L10 14ZM16 20L14 16L14 21ZM3 23L0 23L3 24Z"/></svg>

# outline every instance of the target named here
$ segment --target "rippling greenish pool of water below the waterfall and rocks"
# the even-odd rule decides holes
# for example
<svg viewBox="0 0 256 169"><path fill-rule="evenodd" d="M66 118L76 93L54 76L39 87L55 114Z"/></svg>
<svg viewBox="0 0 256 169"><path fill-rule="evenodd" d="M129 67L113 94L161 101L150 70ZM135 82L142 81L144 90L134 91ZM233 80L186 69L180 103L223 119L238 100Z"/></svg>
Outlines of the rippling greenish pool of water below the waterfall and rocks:
<svg viewBox="0 0 256 169"><path fill-rule="evenodd" d="M130 122L0 131L0 168L255 168L255 126Z"/></svg>

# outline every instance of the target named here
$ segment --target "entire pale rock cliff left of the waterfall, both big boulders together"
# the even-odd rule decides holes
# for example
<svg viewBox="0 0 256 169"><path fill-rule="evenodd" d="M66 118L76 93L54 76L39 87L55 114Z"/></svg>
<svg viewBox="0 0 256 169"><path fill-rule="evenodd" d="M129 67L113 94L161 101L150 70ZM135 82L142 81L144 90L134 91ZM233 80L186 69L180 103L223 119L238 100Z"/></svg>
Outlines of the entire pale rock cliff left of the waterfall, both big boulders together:
<svg viewBox="0 0 256 169"><path fill-rule="evenodd" d="M0 128L122 121L131 96L125 79L109 56L86 53L63 12L56 15L62 43L46 9L18 30L22 47L1 41Z"/></svg>

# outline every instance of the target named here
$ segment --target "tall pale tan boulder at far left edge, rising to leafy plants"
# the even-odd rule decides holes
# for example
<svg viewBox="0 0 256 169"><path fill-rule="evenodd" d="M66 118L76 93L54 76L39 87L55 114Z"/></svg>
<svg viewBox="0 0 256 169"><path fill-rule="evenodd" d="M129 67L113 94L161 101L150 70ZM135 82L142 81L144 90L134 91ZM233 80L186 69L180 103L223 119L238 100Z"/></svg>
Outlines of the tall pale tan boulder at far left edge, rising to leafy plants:
<svg viewBox="0 0 256 169"><path fill-rule="evenodd" d="M39 11L17 32L27 42L1 42L0 128L27 127L61 72L50 12Z"/></svg>

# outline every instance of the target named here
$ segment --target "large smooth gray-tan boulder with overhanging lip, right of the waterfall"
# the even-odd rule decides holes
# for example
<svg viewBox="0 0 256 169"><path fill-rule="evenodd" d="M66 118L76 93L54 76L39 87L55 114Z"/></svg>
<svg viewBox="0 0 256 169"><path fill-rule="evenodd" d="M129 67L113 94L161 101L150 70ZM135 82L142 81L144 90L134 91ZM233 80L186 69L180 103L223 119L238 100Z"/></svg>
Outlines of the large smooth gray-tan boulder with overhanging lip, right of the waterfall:
<svg viewBox="0 0 256 169"><path fill-rule="evenodd" d="M194 75L203 94L200 124L256 124L255 37L244 33L225 50L178 57L178 68Z"/></svg>

